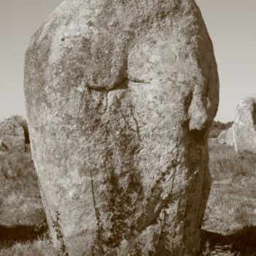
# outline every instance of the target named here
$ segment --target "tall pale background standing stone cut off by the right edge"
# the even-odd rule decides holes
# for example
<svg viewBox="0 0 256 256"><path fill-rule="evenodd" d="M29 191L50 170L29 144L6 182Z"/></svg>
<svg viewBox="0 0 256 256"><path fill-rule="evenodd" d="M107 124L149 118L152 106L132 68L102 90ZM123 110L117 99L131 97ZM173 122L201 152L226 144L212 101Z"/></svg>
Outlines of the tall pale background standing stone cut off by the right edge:
<svg viewBox="0 0 256 256"><path fill-rule="evenodd" d="M236 151L256 153L256 95L238 103L233 132Z"/></svg>

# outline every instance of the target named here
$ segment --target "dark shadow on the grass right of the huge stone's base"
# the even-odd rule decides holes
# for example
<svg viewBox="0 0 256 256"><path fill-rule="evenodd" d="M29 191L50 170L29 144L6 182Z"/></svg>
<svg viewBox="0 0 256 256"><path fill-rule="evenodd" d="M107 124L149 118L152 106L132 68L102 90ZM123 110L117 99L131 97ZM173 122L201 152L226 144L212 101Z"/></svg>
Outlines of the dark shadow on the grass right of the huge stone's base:
<svg viewBox="0 0 256 256"><path fill-rule="evenodd" d="M256 226L243 227L227 236L202 230L203 248L206 247L207 242L210 249L220 246L227 248L230 252L236 252L239 256L256 255Z"/></svg>

